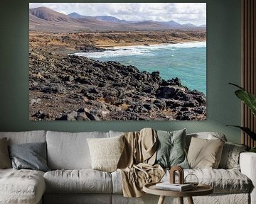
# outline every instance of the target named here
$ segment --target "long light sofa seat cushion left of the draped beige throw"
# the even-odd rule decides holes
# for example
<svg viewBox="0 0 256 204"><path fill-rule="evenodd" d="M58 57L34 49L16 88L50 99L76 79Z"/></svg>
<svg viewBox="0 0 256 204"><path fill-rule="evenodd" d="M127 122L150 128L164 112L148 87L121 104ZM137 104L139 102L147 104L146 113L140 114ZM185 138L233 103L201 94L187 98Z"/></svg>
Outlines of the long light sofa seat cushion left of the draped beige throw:
<svg viewBox="0 0 256 204"><path fill-rule="evenodd" d="M44 174L47 193L111 193L111 174L93 169L55 170Z"/></svg>

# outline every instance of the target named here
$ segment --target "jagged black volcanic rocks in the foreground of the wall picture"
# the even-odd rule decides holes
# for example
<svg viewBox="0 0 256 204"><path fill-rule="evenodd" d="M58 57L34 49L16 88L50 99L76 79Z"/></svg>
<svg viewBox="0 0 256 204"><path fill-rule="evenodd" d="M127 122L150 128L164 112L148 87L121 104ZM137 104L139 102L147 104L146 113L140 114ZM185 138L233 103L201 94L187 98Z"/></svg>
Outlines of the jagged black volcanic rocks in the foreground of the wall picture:
<svg viewBox="0 0 256 204"><path fill-rule="evenodd" d="M206 120L206 96L159 72L33 49L29 69L30 120Z"/></svg>

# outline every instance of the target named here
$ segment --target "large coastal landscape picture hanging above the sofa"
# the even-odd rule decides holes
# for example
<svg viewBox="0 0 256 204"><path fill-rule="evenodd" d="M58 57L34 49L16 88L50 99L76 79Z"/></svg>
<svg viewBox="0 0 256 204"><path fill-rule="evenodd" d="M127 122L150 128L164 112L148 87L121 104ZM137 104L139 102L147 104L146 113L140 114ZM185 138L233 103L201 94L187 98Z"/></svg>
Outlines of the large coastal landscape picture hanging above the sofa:
<svg viewBox="0 0 256 204"><path fill-rule="evenodd" d="M206 3L30 3L29 120L206 120Z"/></svg>

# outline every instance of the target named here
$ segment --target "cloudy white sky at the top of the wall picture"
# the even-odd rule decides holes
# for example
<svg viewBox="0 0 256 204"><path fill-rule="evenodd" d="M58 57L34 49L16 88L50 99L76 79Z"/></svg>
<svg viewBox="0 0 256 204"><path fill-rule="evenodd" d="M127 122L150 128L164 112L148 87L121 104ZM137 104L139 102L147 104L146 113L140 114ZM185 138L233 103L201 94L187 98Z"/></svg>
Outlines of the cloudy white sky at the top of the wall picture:
<svg viewBox="0 0 256 204"><path fill-rule="evenodd" d="M206 3L30 3L29 8L46 6L61 13L83 16L114 16L126 21L176 21L206 25Z"/></svg>

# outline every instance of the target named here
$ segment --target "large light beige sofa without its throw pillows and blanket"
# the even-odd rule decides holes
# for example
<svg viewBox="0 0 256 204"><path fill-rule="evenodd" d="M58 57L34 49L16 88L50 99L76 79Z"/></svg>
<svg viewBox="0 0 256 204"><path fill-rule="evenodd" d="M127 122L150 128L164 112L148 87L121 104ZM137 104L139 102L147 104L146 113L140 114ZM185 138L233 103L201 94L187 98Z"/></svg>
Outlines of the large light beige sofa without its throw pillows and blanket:
<svg viewBox="0 0 256 204"><path fill-rule="evenodd" d="M0 203L157 203L159 197L148 194L141 198L124 198L119 171L108 173L91 168L87 138L122 134L113 131L0 132L0 138L7 137L9 145L46 141L48 167L51 169L46 173L28 169L0 169ZM186 136L188 143L191 136ZM193 136L208 138L208 133ZM256 203L256 154L241 153L240 169L185 169L185 174L196 174L201 183L214 188L210 196L193 198L194 203ZM166 171L162 181L168 179L169 172ZM178 200L166 199L166 203L170 201L176 203Z"/></svg>

